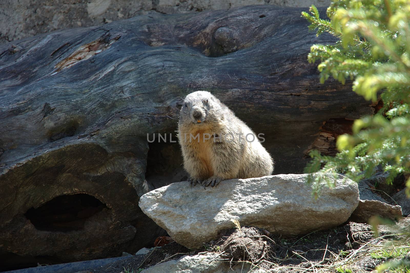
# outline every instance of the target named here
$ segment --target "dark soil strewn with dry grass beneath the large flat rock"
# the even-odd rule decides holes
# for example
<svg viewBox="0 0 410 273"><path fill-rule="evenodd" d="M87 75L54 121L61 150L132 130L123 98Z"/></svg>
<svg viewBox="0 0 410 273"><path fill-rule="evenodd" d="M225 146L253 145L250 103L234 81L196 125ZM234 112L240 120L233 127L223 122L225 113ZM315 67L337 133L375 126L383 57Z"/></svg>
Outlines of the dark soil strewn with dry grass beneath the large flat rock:
<svg viewBox="0 0 410 273"><path fill-rule="evenodd" d="M371 257L369 250L394 239L398 237L392 232L381 231L375 236L371 226L353 222L293 238L275 236L255 227L241 227L219 234L218 239L197 251L172 242L146 255L132 256L89 272L137 273L160 262L205 251L223 252L221 260L229 261L234 269L241 261L248 261L272 272L369 272L387 260ZM410 259L410 255L405 258Z"/></svg>

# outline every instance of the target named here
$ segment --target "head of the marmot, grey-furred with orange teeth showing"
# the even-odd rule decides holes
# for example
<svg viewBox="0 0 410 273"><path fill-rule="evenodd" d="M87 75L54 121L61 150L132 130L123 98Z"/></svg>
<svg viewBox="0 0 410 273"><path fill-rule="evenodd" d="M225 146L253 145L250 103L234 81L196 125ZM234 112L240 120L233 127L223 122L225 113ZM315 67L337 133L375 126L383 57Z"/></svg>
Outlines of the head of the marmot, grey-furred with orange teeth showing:
<svg viewBox="0 0 410 273"><path fill-rule="evenodd" d="M201 126L209 122L218 122L223 116L221 101L210 92L196 91L188 94L182 104L180 122L190 122Z"/></svg>

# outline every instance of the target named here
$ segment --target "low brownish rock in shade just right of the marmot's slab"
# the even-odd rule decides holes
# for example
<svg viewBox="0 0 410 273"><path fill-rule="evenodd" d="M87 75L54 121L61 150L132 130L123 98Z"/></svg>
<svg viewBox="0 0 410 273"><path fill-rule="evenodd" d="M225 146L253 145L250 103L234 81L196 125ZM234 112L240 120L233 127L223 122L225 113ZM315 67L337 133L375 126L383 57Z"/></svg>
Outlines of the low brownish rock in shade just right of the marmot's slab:
<svg viewBox="0 0 410 273"><path fill-rule="evenodd" d="M399 220L402 218L400 206L392 206L377 200L360 200L358 207L353 211L349 220L356 223L368 223L372 216Z"/></svg>

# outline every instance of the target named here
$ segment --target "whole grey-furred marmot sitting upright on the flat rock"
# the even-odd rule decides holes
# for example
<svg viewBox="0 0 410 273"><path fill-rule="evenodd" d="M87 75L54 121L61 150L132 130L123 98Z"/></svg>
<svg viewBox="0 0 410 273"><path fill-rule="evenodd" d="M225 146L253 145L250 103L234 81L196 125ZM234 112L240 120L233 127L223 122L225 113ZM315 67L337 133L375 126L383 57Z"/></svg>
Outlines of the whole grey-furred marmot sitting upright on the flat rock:
<svg viewBox="0 0 410 273"><path fill-rule="evenodd" d="M178 139L189 183L216 186L233 178L271 175L273 160L253 131L210 92L188 94Z"/></svg>

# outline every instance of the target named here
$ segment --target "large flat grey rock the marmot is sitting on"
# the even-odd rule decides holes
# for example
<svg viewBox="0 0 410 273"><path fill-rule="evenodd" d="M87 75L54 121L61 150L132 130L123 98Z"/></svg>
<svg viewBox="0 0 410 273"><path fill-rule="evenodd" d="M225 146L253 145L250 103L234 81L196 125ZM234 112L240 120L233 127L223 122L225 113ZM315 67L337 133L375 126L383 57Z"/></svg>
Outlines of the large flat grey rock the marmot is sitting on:
<svg viewBox="0 0 410 273"><path fill-rule="evenodd" d="M279 174L222 181L216 188L173 183L143 195L142 211L181 245L199 248L218 232L242 225L271 233L298 235L344 223L359 202L355 182L339 176L333 189L324 187L317 200L306 174Z"/></svg>

